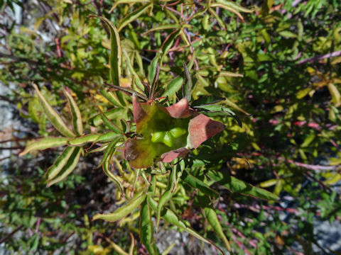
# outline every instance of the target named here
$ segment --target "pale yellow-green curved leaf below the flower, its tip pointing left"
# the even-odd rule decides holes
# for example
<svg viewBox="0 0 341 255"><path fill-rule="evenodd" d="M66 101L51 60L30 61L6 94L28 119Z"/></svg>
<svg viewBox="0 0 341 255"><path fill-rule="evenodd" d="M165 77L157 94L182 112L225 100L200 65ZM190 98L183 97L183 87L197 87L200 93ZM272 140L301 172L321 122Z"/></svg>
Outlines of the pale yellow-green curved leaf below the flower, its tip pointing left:
<svg viewBox="0 0 341 255"><path fill-rule="evenodd" d="M135 210L141 203L144 202L146 199L145 191L141 191L140 193L136 194L134 198L132 198L129 203L126 205L121 206L116 211L109 213L109 214L97 214L92 217L92 220L106 220L109 222L115 222L117 220L121 220L121 218L126 217L129 215L133 210Z"/></svg>

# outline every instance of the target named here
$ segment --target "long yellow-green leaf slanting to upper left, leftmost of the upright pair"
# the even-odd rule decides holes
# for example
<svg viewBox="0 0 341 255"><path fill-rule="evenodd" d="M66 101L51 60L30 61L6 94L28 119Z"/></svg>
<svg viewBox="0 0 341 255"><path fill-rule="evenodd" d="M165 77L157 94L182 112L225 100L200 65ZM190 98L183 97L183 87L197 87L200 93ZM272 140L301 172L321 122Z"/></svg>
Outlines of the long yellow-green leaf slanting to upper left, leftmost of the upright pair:
<svg viewBox="0 0 341 255"><path fill-rule="evenodd" d="M36 89L36 94L38 96L41 107L43 108L46 116L48 117L48 120L50 120L55 129L58 130L62 135L65 135L67 137L75 137L75 133L67 128L62 118L60 118L60 115L55 110L53 110L48 101L46 101L46 99L40 93L38 86L36 84L33 84L33 87L34 89Z"/></svg>

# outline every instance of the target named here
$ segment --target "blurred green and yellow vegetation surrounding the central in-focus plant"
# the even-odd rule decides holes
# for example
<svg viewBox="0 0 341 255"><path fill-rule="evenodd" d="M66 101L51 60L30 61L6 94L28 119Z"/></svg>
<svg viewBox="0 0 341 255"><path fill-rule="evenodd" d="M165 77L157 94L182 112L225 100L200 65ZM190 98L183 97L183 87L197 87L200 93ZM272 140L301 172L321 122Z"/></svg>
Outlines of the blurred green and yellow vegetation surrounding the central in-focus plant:
<svg viewBox="0 0 341 255"><path fill-rule="evenodd" d="M95 169L102 154L81 158L70 176L49 188L43 175L62 150L18 157L27 140L57 134L39 98L33 96L32 81L65 120L70 119L65 87L74 92L84 122L113 107L99 94L111 83L110 31L93 17L104 16L119 30L124 51L121 86L138 86L136 77L152 83L153 60L158 57L158 84L166 90L159 96L168 96L173 104L181 98L183 81L175 83L175 77L188 84L185 62L193 100L224 98L219 106L234 111L242 123L240 128L227 110L215 114L212 118L227 128L188 157L189 162L201 162L193 169L204 173L215 169L279 197L274 202L242 196L226 181L213 184L195 172L220 194L213 208L235 254L340 253L340 246L332 246L340 242L340 233L327 233L332 239L327 246L317 230L320 222L336 225L341 214L339 1L0 3L0 79L10 89L0 99L13 106L21 121L1 131L1 151L11 152L9 161L1 158L1 249L18 254L150 251L139 239L138 210L118 223L91 221L96 213L116 210L133 192L124 186L126 196L121 196L102 169ZM23 11L20 21L13 15L15 4ZM126 103L130 98L124 96ZM120 127L121 118L132 119L129 107L125 109L112 120ZM102 133L108 125L87 125L85 132ZM120 154L115 156L114 171L128 175L130 183L137 176ZM202 212L202 190L183 180L179 187L167 206L224 249L217 229ZM168 188L167 178L158 180L158 188L160 192ZM217 252L179 229L174 233L180 231L180 238L173 234L174 240L162 239L162 232L171 235L173 229L166 223L159 228L156 244L161 252L171 249L173 242L177 249L171 254Z"/></svg>

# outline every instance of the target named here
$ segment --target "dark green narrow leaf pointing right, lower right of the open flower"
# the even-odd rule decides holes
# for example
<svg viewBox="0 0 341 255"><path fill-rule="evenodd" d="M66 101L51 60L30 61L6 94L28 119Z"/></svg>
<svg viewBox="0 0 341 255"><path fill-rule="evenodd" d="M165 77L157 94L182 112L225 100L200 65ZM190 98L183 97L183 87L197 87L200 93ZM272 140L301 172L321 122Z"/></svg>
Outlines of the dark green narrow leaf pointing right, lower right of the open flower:
<svg viewBox="0 0 341 255"><path fill-rule="evenodd" d="M229 176L227 173L222 173L220 171L208 171L207 176L231 192L237 192L265 200L278 200L278 196L273 193L266 191L263 188L252 186L251 184L234 178L233 176Z"/></svg>

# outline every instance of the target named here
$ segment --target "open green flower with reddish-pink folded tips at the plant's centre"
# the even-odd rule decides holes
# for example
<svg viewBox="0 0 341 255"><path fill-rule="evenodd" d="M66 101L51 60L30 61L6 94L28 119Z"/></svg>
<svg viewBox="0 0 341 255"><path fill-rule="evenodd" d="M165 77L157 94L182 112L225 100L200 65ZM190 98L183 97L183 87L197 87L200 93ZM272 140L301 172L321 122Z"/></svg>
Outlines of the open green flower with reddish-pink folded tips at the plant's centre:
<svg viewBox="0 0 341 255"><path fill-rule="evenodd" d="M135 168L172 162L224 129L224 125L190 109L188 100L163 107L156 101L140 103L133 96L136 133L126 141L124 157Z"/></svg>

